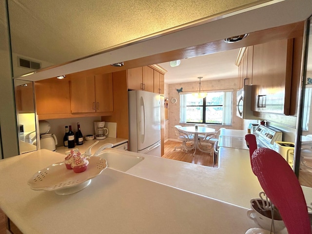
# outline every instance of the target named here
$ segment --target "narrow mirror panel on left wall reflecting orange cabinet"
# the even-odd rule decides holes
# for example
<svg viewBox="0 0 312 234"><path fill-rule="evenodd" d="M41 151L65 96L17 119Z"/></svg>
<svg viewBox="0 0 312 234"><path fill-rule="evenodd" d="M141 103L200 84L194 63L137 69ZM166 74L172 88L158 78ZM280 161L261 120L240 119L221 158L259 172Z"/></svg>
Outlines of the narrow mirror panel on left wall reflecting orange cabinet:
<svg viewBox="0 0 312 234"><path fill-rule="evenodd" d="M14 79L20 154L37 150L34 83Z"/></svg>

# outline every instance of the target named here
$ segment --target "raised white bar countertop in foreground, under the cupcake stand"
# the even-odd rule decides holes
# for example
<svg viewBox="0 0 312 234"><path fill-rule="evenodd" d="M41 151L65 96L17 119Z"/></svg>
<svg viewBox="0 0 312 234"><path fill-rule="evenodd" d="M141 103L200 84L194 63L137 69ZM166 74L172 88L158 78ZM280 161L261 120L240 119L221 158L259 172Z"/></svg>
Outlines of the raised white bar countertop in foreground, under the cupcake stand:
<svg viewBox="0 0 312 234"><path fill-rule="evenodd" d="M43 149L0 161L0 208L24 234L243 234L255 227L245 208L110 168L72 195L29 188L34 173L63 158Z"/></svg>

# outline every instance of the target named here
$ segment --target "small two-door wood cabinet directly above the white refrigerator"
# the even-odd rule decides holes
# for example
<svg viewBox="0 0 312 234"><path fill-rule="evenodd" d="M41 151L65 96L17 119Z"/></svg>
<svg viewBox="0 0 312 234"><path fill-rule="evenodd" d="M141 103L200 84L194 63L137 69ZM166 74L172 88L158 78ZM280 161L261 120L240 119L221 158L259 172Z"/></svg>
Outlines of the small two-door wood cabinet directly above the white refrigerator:
<svg viewBox="0 0 312 234"><path fill-rule="evenodd" d="M137 67L127 70L128 89L154 92L154 70L151 67Z"/></svg>

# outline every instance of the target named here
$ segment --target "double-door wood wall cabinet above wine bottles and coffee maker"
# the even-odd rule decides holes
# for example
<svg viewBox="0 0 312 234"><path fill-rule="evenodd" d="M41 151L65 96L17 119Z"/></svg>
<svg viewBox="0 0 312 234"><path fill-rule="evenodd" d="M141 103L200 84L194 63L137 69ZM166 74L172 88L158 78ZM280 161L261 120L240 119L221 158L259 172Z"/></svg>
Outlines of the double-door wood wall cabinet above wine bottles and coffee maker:
<svg viewBox="0 0 312 234"><path fill-rule="evenodd" d="M71 78L71 112L112 112L112 73Z"/></svg>

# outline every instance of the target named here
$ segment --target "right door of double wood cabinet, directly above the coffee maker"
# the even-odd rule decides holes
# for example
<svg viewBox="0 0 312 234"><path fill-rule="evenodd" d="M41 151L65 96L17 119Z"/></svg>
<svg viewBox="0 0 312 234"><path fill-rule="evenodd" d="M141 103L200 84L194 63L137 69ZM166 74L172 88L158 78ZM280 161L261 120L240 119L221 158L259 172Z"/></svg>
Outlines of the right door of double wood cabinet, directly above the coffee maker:
<svg viewBox="0 0 312 234"><path fill-rule="evenodd" d="M111 112L113 106L112 73L95 76L96 112Z"/></svg>

